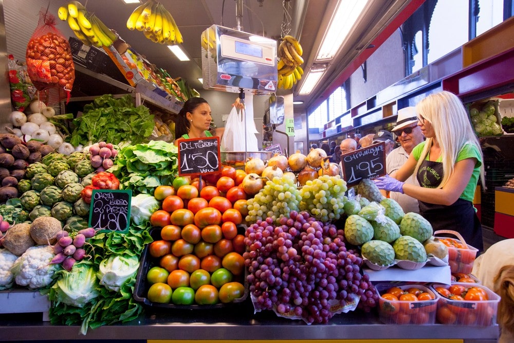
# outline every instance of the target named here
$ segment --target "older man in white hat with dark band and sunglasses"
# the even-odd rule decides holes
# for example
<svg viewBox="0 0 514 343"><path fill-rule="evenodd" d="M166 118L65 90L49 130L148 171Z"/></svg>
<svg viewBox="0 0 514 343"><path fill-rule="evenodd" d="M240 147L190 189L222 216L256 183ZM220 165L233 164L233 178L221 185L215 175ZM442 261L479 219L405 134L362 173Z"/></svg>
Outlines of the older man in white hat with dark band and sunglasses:
<svg viewBox="0 0 514 343"><path fill-rule="evenodd" d="M407 162L412 149L425 139L423 133L421 133L421 128L417 123L416 107L410 106L398 110L396 126L391 131L395 134L396 141L400 143L400 146L391 151L391 153L386 157L386 171L393 177L394 173ZM405 182L419 186L416 175L414 174L409 176ZM419 213L419 204L417 199L399 192L389 192L389 197L400 204L403 212Z"/></svg>

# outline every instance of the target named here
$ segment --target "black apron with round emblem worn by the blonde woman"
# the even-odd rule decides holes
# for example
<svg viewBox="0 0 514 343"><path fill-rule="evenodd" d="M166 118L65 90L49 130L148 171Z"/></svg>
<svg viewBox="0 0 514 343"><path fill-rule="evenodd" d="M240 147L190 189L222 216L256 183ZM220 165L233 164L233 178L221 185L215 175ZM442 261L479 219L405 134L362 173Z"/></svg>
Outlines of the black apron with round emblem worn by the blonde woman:
<svg viewBox="0 0 514 343"><path fill-rule="evenodd" d="M421 187L436 188L443 178L443 163L424 160L416 177ZM482 225L470 201L458 198L449 206L419 201L419 214L432 224L434 231L445 229L457 231L467 244L479 251L484 250Z"/></svg>

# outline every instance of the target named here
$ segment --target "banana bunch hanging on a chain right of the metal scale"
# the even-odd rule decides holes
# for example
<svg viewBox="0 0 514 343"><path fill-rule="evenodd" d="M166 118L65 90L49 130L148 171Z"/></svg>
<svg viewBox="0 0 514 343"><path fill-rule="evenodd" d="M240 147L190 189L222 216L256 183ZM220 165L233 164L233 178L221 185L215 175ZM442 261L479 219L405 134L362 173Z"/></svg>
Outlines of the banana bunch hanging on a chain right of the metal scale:
<svg viewBox="0 0 514 343"><path fill-rule="evenodd" d="M302 78L303 49L296 38L286 35L279 45L278 88L291 89Z"/></svg>

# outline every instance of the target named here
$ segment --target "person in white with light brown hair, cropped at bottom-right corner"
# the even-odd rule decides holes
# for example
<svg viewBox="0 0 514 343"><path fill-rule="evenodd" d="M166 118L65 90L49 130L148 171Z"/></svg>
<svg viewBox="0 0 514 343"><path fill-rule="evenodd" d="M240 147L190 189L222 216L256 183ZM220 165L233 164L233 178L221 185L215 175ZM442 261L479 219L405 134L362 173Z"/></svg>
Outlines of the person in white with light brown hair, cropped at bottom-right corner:
<svg viewBox="0 0 514 343"><path fill-rule="evenodd" d="M498 294L499 343L514 342L514 239L491 245L473 262L473 274L482 285Z"/></svg>

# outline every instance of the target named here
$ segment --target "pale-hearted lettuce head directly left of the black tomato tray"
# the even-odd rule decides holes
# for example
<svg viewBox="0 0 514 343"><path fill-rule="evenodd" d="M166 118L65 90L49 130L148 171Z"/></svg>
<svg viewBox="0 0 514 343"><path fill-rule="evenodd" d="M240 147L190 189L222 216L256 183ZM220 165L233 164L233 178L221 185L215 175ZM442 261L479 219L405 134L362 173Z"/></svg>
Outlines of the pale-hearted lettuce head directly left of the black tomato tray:
<svg viewBox="0 0 514 343"><path fill-rule="evenodd" d="M100 262L97 277L100 279L100 284L107 290L119 292L121 285L136 274L137 268L139 268L137 256L111 255Z"/></svg>

